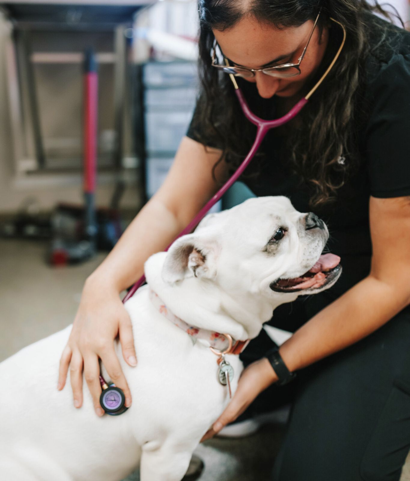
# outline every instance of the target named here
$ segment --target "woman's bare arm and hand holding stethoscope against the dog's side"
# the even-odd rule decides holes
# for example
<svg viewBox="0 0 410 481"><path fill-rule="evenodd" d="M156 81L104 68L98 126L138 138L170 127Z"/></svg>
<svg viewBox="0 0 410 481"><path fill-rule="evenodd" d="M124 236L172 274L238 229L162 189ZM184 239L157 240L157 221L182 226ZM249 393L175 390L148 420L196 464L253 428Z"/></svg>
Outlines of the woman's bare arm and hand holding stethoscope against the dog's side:
<svg viewBox="0 0 410 481"><path fill-rule="evenodd" d="M87 279L73 329L60 360L58 389L64 387L70 366L77 407L83 402L84 369L95 410L97 414L102 414L99 405L99 358L115 385L124 391L125 405L131 404L131 394L113 342L119 334L125 362L135 366L131 321L119 292L141 277L149 256L163 251L216 193L220 181L226 179L228 172L227 165L221 162L215 169L216 177L212 174L221 155L219 150L205 149L199 142L184 137L161 188L140 210L112 252ZM140 241L136 242L136 239Z"/></svg>

